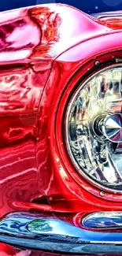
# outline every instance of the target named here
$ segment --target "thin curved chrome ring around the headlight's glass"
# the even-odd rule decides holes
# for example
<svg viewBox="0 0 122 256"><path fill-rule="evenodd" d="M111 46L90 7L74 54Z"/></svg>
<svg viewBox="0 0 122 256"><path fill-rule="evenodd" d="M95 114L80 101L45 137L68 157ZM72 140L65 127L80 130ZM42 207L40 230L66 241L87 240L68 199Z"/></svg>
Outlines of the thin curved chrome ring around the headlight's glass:
<svg viewBox="0 0 122 256"><path fill-rule="evenodd" d="M68 102L68 110L65 113L65 141L66 141L66 148L68 150L68 154L69 157L71 158L72 164L75 165L76 170L79 172L79 174L81 176L83 176L86 180L90 181L91 184L94 184L96 187L102 189L103 191L108 191L108 192L117 192L118 194L122 194L122 191L120 191L120 188L112 188L112 187L108 187L104 184L101 184L100 182L97 182L96 180L92 179L91 176L89 176L87 173L83 172L83 170L79 167L78 163L76 162L76 159L74 158L73 154L72 154L72 150L70 147L70 142L69 142L69 138L68 138L68 117L69 117L69 113L71 111L72 108L72 103L74 102L75 98L77 97L77 95L79 95L79 91L81 90L81 88L85 87L85 85L92 79L94 78L94 76L97 76L99 73L104 72L108 69L113 69L113 68L121 68L122 64L115 64L115 65L108 65L105 68L99 69L97 72L94 72L93 75L91 75L87 80L85 80L83 83L79 84L79 88L78 90L76 90L76 92L73 93L71 100ZM103 113L104 114L104 113Z"/></svg>

